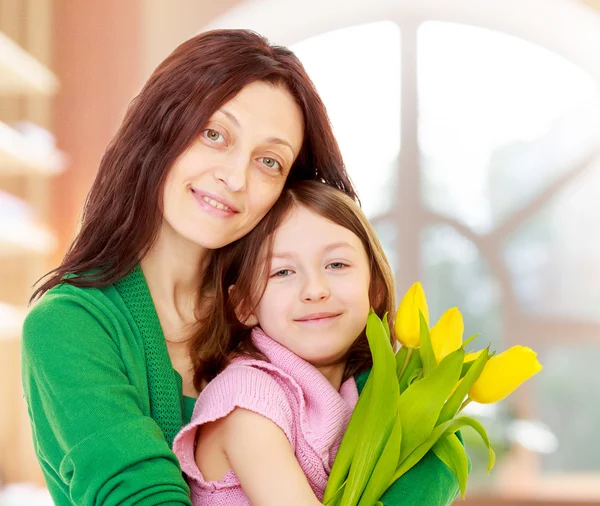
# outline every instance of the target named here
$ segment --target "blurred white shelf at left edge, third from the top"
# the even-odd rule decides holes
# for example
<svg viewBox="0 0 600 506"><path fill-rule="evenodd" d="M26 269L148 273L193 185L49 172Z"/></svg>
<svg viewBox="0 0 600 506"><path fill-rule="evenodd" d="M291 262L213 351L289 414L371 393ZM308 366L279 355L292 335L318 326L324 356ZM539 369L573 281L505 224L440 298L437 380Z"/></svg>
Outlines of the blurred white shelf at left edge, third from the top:
<svg viewBox="0 0 600 506"><path fill-rule="evenodd" d="M54 234L44 227L0 222L0 258L28 254L47 255L56 249L57 244Z"/></svg>

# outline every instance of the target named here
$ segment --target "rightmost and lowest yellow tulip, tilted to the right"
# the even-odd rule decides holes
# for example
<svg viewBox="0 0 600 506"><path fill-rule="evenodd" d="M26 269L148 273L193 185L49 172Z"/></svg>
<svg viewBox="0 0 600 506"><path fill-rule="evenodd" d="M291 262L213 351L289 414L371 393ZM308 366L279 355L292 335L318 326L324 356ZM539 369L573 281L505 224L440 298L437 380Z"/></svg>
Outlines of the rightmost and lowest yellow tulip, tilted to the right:
<svg viewBox="0 0 600 506"><path fill-rule="evenodd" d="M481 404L501 401L541 370L537 353L525 346L513 346L488 360L469 397Z"/></svg>

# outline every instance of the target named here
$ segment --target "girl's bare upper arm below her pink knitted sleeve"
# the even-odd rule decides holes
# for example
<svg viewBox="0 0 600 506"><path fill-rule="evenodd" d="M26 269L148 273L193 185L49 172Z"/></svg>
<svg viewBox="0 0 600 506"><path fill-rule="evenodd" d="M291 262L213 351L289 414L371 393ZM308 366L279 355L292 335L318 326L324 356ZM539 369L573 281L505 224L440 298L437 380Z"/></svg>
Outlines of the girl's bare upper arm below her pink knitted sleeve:
<svg viewBox="0 0 600 506"><path fill-rule="evenodd" d="M286 435L274 422L254 411L236 408L223 424L223 449L252 504L321 504Z"/></svg>

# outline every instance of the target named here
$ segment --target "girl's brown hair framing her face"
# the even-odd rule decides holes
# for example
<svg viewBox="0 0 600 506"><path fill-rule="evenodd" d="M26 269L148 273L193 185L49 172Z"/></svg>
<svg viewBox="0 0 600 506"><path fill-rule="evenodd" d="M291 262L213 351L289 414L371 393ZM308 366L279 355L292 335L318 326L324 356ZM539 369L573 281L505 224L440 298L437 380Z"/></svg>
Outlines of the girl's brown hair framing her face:
<svg viewBox="0 0 600 506"><path fill-rule="evenodd" d="M295 183L284 189L254 230L216 251L211 259L202 290L210 295L204 299L203 316L191 341L194 383L198 389L223 370L234 355L246 353L260 357L250 340L251 328L237 315L251 314L260 301L268 281L275 232L298 206L350 230L361 240L371 271L369 301L379 317L387 313L392 328L394 277L364 213L350 197L331 186L317 181ZM230 290L233 285L235 288ZM344 379L366 370L371 364L371 352L363 331L350 348Z"/></svg>

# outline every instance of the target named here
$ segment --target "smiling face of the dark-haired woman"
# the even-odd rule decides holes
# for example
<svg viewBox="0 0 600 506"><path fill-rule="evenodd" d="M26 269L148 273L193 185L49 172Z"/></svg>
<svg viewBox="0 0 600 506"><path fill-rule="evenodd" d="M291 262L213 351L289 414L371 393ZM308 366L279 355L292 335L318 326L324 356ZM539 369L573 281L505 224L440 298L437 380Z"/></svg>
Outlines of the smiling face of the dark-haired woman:
<svg viewBox="0 0 600 506"><path fill-rule="evenodd" d="M285 88L262 81L243 88L173 164L161 232L207 249L250 232L279 197L303 132L302 111Z"/></svg>

